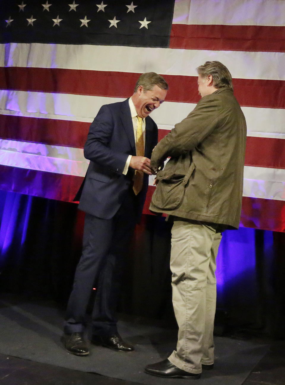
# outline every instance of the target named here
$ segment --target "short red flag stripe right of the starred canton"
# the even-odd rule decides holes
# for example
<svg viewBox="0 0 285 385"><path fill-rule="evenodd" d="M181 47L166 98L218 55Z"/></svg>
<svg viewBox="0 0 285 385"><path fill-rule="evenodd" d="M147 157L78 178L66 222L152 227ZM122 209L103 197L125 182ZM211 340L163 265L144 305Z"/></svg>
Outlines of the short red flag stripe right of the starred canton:
<svg viewBox="0 0 285 385"><path fill-rule="evenodd" d="M285 27L173 24L169 48L285 52Z"/></svg>

